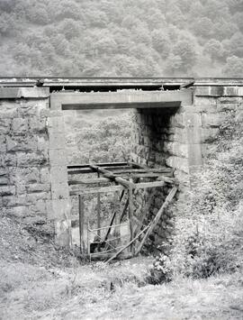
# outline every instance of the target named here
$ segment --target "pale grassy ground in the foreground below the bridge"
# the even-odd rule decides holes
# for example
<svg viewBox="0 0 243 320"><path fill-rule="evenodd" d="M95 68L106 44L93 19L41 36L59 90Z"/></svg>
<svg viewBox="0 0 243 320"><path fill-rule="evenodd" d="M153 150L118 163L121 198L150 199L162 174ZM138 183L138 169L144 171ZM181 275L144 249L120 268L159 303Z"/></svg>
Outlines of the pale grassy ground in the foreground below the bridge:
<svg viewBox="0 0 243 320"><path fill-rule="evenodd" d="M148 285L151 258L80 265L0 221L0 319L243 319L243 277Z"/></svg>

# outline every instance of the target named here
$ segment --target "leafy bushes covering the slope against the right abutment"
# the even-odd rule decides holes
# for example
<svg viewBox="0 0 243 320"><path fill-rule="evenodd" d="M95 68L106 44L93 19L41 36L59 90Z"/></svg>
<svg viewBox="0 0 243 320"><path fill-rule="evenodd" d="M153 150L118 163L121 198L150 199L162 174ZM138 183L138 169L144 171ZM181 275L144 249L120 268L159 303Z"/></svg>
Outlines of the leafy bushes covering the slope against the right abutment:
<svg viewBox="0 0 243 320"><path fill-rule="evenodd" d="M196 187L178 206L170 255L154 263L158 279L242 271L242 123L232 112L221 124L205 168L193 177Z"/></svg>

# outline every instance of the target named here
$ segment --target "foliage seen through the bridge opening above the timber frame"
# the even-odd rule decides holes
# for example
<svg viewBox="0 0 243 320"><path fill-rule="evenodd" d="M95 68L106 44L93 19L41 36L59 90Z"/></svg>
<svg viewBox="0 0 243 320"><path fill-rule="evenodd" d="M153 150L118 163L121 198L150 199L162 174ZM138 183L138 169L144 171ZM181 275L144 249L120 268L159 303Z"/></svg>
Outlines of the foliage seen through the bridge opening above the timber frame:
<svg viewBox="0 0 243 320"><path fill-rule="evenodd" d="M84 120L67 120L67 127L75 128L75 133L67 135L67 146L72 150L72 163L115 162L129 160L130 154L130 115L98 117L93 122L83 124ZM97 116L97 115L96 115ZM71 132L71 130L67 130Z"/></svg>

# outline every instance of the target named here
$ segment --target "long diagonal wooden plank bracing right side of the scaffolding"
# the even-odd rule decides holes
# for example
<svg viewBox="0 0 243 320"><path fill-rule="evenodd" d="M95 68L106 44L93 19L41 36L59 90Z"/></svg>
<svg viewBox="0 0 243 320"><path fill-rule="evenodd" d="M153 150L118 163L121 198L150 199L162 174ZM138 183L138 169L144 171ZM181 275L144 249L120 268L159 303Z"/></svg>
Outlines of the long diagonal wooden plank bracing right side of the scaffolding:
<svg viewBox="0 0 243 320"><path fill-rule="evenodd" d="M168 194L168 196L166 197L166 200L164 202L164 204L161 206L161 208L158 210L156 217L154 218L154 220L152 220L151 224L149 225L148 231L147 233L145 233L142 241L139 243L139 247L138 249L135 251L135 256L137 256L139 254L139 252L141 251L144 243L146 242L146 240L148 239L148 236L153 232L154 228L156 227L159 219L161 218L161 215L163 215L166 207L170 204L170 202L172 201L172 199L175 197L175 194L177 192L178 188L177 187L173 187L170 191L170 193Z"/></svg>

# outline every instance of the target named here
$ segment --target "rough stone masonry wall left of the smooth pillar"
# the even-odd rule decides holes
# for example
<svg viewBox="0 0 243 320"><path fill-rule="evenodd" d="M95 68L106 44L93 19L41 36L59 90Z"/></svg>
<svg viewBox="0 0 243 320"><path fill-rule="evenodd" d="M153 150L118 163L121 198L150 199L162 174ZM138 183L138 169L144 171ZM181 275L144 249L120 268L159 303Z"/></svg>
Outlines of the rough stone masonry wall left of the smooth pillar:
<svg viewBox="0 0 243 320"><path fill-rule="evenodd" d="M17 98L0 100L0 208L2 214L52 234L49 89L19 92Z"/></svg>

